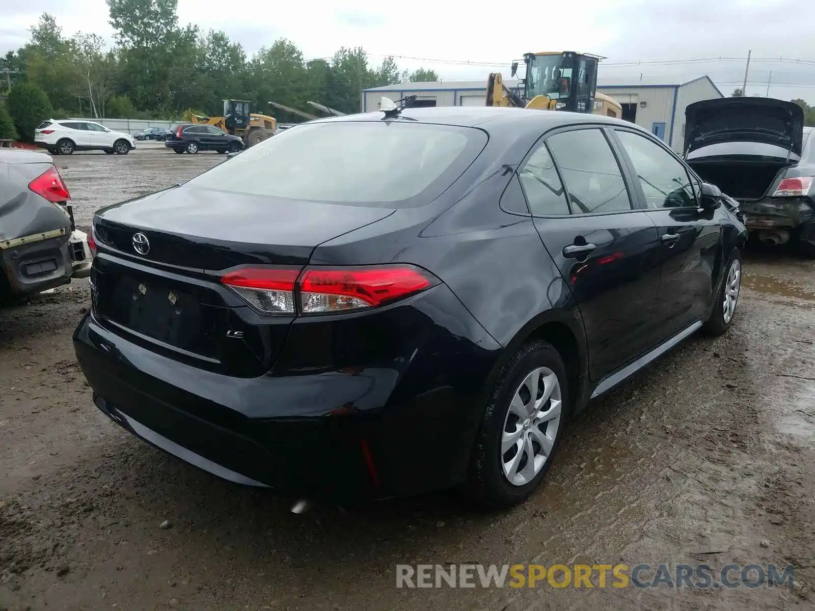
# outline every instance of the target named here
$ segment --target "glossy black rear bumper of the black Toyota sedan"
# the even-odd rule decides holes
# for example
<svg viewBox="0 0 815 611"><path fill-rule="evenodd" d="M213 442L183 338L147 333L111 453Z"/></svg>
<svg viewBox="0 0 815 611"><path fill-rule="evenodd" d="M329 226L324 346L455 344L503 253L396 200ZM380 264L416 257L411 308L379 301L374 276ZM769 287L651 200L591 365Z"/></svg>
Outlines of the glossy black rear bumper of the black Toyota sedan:
<svg viewBox="0 0 815 611"><path fill-rule="evenodd" d="M267 376L225 376L131 343L91 313L73 341L99 409L209 473L311 499L420 494L464 480L500 350L440 288L414 306L452 317L456 336L429 318L413 354L353 369L295 375L281 355Z"/></svg>

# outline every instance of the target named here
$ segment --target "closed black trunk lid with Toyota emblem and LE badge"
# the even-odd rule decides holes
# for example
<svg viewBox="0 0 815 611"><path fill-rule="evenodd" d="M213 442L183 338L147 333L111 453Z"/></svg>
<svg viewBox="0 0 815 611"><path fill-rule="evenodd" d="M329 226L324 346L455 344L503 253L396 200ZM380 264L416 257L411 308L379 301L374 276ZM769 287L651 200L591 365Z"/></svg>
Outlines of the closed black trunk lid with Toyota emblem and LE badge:
<svg viewBox="0 0 815 611"><path fill-rule="evenodd" d="M95 318L194 367L260 376L274 365L293 314L253 310L221 284L223 270L300 270L318 244L391 213L192 187L110 206L94 218Z"/></svg>

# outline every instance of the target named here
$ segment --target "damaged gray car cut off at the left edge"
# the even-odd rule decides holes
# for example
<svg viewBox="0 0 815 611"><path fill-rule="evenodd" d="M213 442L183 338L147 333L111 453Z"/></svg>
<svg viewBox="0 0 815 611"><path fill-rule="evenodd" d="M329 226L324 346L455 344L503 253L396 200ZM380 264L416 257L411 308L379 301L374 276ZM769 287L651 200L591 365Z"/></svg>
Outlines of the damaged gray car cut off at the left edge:
<svg viewBox="0 0 815 611"><path fill-rule="evenodd" d="M51 156L0 149L0 305L90 275L70 199Z"/></svg>

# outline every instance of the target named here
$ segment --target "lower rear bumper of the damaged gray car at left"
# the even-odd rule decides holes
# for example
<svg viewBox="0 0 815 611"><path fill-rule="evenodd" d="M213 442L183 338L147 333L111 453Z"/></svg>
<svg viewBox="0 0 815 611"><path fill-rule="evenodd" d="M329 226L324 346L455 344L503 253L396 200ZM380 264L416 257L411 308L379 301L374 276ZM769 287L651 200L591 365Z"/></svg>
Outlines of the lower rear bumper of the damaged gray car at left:
<svg viewBox="0 0 815 611"><path fill-rule="evenodd" d="M55 230L59 231L62 235L0 249L0 264L12 295L32 295L71 281L73 265L69 232Z"/></svg>

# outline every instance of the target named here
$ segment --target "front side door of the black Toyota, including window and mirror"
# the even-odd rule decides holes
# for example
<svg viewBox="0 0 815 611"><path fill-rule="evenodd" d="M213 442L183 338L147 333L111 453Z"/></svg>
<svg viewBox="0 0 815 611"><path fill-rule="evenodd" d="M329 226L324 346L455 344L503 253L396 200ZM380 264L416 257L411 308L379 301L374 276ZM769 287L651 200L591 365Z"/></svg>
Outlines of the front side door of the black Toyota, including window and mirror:
<svg viewBox="0 0 815 611"><path fill-rule="evenodd" d="M699 211L701 185L672 151L632 130L614 134L659 231L657 312L672 335L701 319L711 302L721 228L713 211Z"/></svg>

